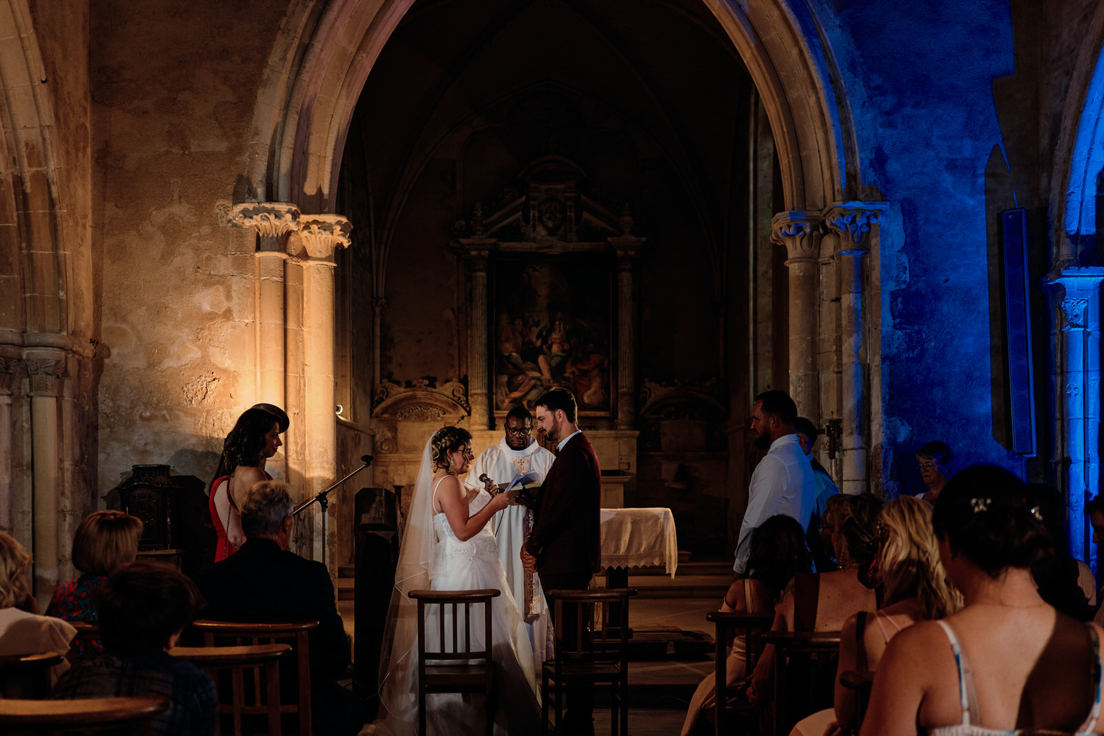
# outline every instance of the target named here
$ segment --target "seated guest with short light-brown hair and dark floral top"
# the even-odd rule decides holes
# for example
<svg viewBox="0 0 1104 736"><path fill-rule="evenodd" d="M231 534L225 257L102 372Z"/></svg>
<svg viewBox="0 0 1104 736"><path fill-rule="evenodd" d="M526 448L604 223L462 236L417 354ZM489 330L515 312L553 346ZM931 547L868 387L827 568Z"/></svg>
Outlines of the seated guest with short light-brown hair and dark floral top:
<svg viewBox="0 0 1104 736"><path fill-rule="evenodd" d="M132 563L138 554L141 521L121 511L97 511L76 527L73 537L73 566L84 573L54 590L46 616L97 623L96 591L116 569ZM77 661L103 651L99 639L76 642Z"/></svg>

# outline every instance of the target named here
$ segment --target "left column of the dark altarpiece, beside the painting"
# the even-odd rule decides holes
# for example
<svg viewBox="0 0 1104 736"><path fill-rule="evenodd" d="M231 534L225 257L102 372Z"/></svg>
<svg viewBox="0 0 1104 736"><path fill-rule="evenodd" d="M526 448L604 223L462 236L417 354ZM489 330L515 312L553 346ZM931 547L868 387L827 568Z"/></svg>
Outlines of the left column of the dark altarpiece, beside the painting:
<svg viewBox="0 0 1104 736"><path fill-rule="evenodd" d="M488 237L461 237L460 253L471 281L468 314L468 403L471 405L471 429L493 429L490 408L489 316L487 312L487 269L490 252L498 243Z"/></svg>

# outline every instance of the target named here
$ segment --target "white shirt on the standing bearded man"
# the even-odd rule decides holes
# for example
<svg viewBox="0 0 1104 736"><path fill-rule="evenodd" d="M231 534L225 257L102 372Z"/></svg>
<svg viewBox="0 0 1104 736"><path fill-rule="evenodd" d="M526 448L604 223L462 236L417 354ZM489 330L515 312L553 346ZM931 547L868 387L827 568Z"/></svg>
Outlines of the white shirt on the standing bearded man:
<svg viewBox="0 0 1104 736"><path fill-rule="evenodd" d="M747 511L740 525L740 543L736 544L736 562L732 569L744 572L752 546L752 532L771 516L793 516L800 522L802 530L806 530L815 498L813 466L797 441L797 435L785 435L771 442L771 449L755 466L747 487Z"/></svg>

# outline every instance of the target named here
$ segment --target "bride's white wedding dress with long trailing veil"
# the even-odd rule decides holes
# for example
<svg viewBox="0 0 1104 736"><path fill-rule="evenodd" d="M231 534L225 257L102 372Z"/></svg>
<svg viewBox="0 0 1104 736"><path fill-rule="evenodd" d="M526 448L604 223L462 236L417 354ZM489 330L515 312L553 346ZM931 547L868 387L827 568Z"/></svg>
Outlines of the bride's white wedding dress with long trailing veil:
<svg viewBox="0 0 1104 736"><path fill-rule="evenodd" d="M438 481L439 482L439 481ZM426 575L413 567L416 552L407 553L407 540L403 542L400 553L399 573L396 573L396 594L392 597L392 616L390 625L394 628L393 638L384 639L385 647L391 644L391 651L383 660L381 675L384 676L381 687L381 719L376 722L380 733L396 736L417 734L417 621L416 606L407 605L405 594L417 589L421 583L428 583L433 590L478 590L497 588L501 595L491 602L491 653L497 665L496 678L496 715L495 734L522 735L535 734L541 727L540 704L537 697L537 680L533 673L533 652L529 643L529 633L524 621L518 611L518 606L510 594L510 586L498 559L498 545L490 526L484 526L475 536L466 542L456 538L453 527L443 513L432 513L433 497L436 494L436 483L432 488L420 484L415 494L425 491L428 499L415 498L411 503L410 525L417 522L416 509L428 508L432 514L433 532L422 541L422 558L425 559ZM428 504L425 501L428 500ZM421 503L420 503L421 501ZM477 513L490 501L486 491L480 491L469 504L469 513ZM411 546L418 542L416 530L407 534ZM432 550L428 547L432 546ZM404 573L404 561L410 566ZM411 572L414 570L414 572ZM427 579L426 579L427 578ZM412 614L413 609L413 614ZM476 648L482 644L482 611L473 607L473 626L470 628ZM463 631L463 621L458 630ZM446 637L450 636L452 621L445 621ZM413 638L412 638L413 630ZM438 622L436 616L427 614L426 644L431 650L437 646ZM390 630L389 630L390 632ZM463 634L461 634L463 636ZM463 640L461 640L463 643ZM427 696L427 728L431 735L448 736L470 734L477 736L486 733L485 698L482 695L461 695L454 693L431 694Z"/></svg>

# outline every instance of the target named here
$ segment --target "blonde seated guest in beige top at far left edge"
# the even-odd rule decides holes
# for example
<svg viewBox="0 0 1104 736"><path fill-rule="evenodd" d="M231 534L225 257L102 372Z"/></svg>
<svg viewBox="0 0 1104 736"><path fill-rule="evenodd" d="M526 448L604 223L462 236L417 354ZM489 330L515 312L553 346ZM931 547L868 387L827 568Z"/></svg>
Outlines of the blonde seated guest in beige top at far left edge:
<svg viewBox="0 0 1104 736"><path fill-rule="evenodd" d="M0 655L65 652L76 636L76 629L65 621L35 614L39 604L26 579L30 566L31 555L23 545L0 532ZM67 668L62 662L51 676Z"/></svg>

